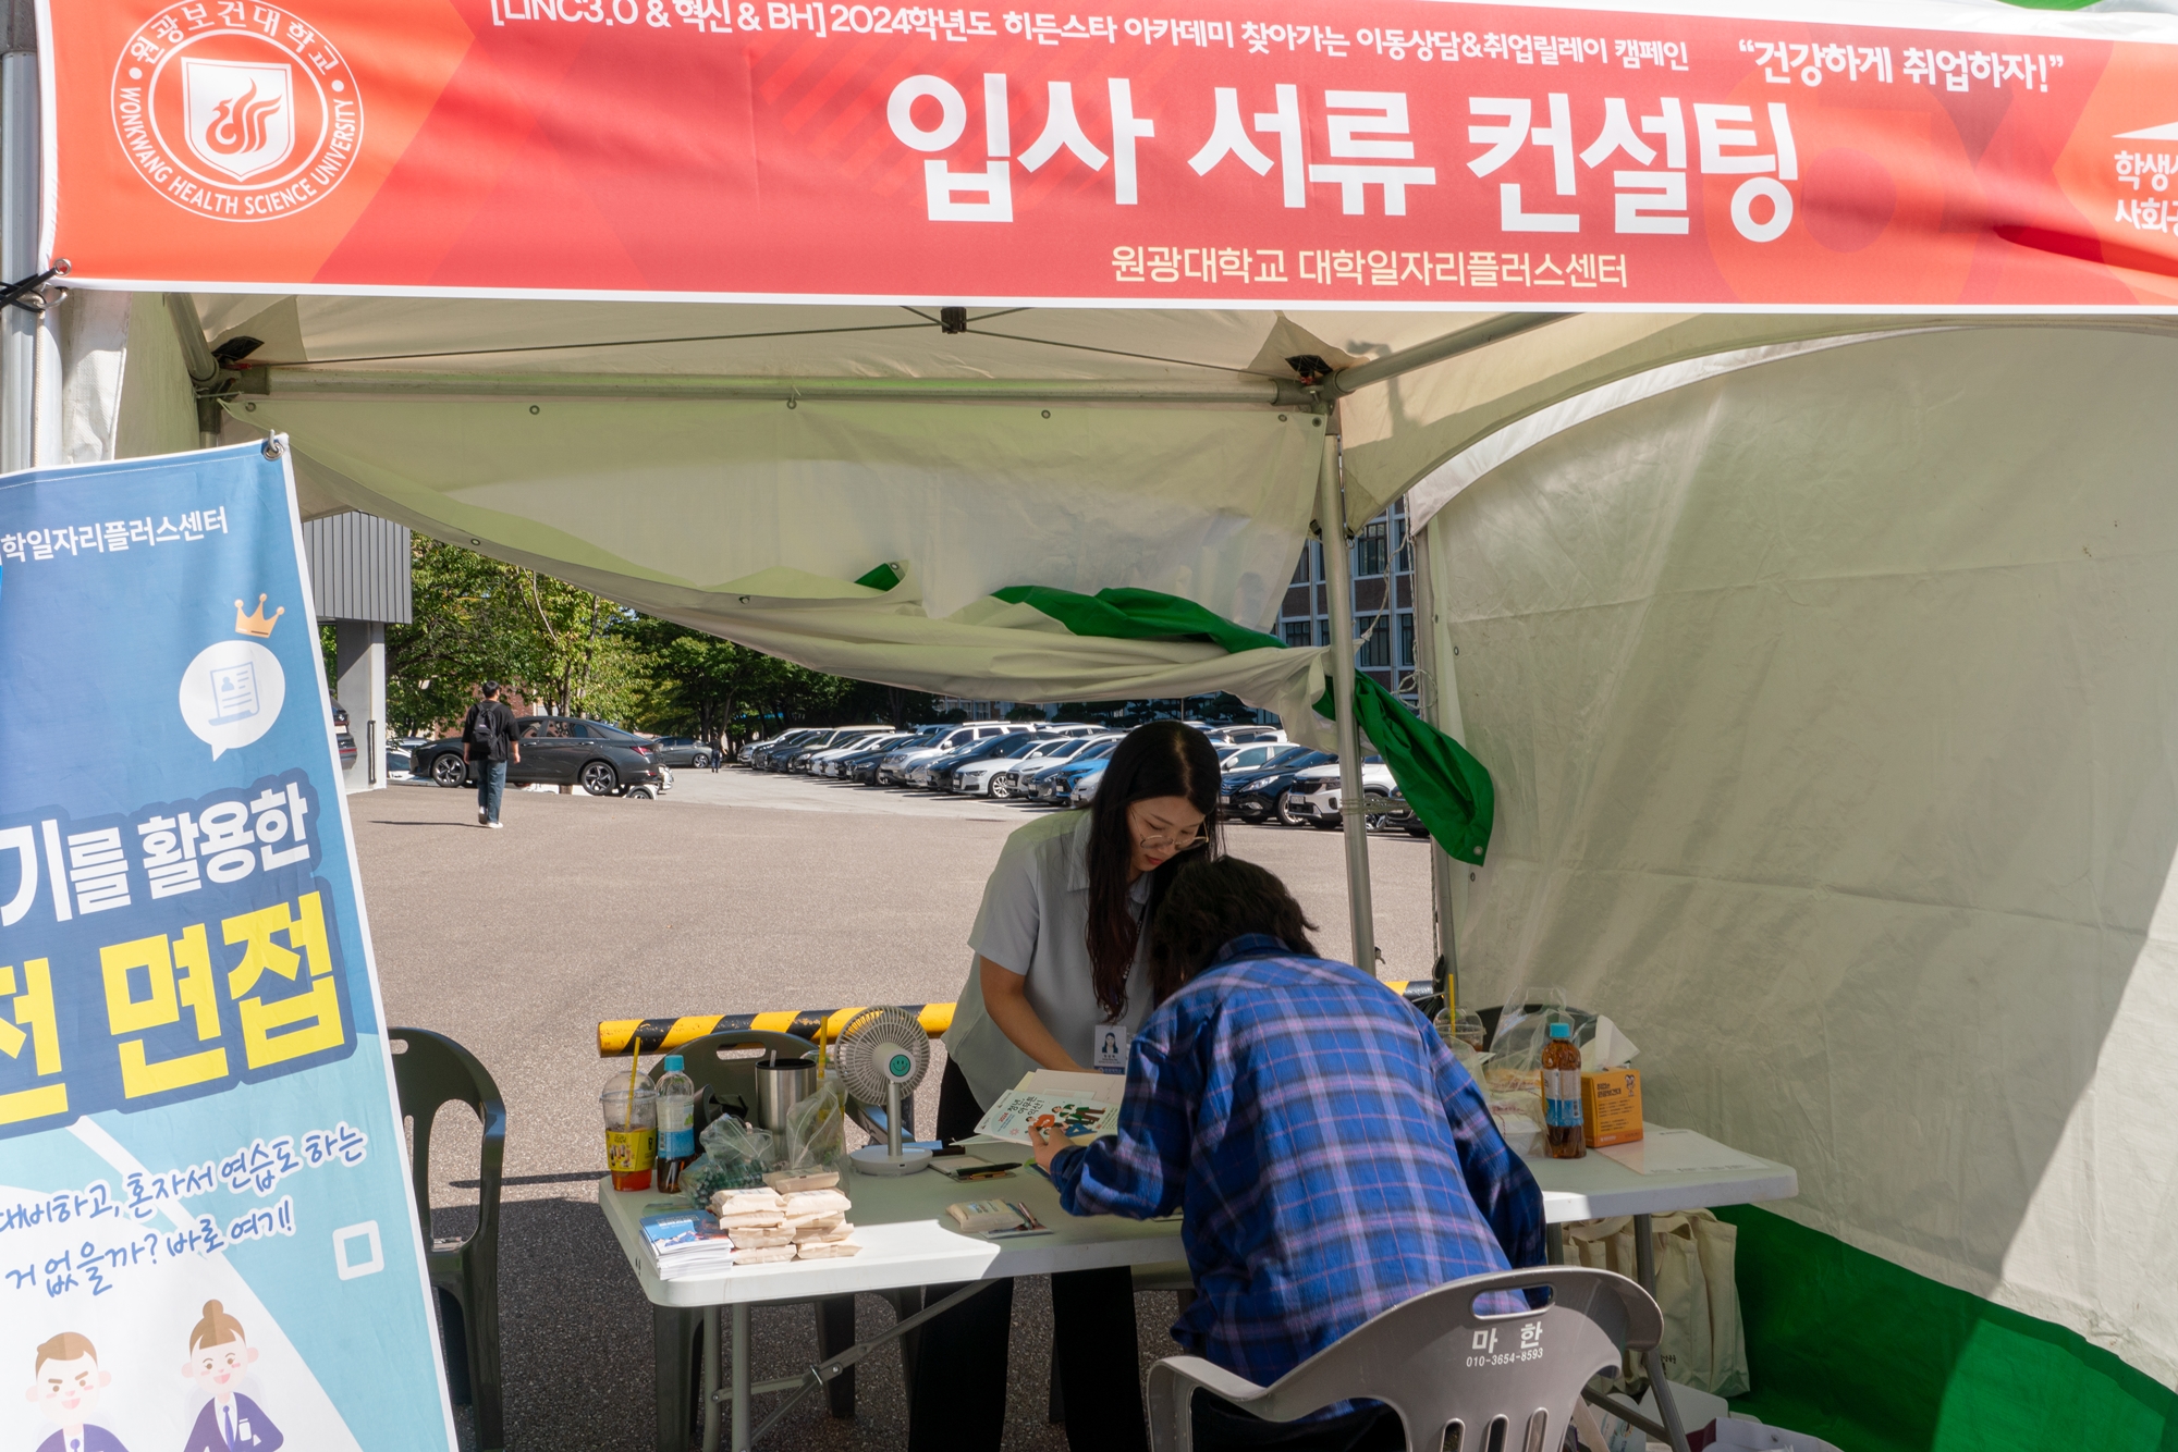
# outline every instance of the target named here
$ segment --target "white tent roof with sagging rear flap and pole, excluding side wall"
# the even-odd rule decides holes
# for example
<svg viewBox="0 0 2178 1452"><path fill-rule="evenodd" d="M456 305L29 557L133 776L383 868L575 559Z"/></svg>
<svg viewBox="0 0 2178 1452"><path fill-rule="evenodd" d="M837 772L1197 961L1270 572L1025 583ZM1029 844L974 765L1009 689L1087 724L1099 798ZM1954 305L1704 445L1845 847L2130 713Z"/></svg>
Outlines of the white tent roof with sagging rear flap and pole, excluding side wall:
<svg viewBox="0 0 2178 1452"><path fill-rule="evenodd" d="M78 324L74 372L118 383L126 337L150 329L161 361L144 366L166 368L170 401L192 374L224 394L207 442L298 442L307 512L366 509L862 679L1024 701L1231 690L1302 740L1346 747L1353 812L1359 751L1309 710L1324 649L1091 642L991 592L1143 588L1268 629L1320 520L1350 536L1442 459L1562 401L1751 346L1984 322L965 309L945 331L900 307L248 294L163 307L107 300L102 327ZM170 320L183 348L166 348ZM248 366L222 372L222 348L250 348ZM1289 359L1335 372L1302 383ZM87 418L122 409L72 414L70 448L96 457L111 427ZM1344 612L1346 553L1326 562ZM904 581L856 586L876 564ZM1039 627L1061 640L1021 636ZM1350 623L1333 640L1346 690ZM1431 710L1457 721L1451 699ZM1366 836L1348 834L1363 960L1366 858Z"/></svg>

